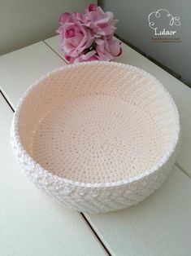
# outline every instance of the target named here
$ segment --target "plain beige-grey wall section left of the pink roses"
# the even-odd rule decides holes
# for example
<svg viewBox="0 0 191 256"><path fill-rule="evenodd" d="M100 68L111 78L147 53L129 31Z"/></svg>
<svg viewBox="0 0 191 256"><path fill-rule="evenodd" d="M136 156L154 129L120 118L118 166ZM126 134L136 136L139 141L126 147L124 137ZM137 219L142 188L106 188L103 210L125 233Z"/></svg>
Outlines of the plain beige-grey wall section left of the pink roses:
<svg viewBox="0 0 191 256"><path fill-rule="evenodd" d="M0 55L54 36L59 15L89 0L0 0Z"/></svg>

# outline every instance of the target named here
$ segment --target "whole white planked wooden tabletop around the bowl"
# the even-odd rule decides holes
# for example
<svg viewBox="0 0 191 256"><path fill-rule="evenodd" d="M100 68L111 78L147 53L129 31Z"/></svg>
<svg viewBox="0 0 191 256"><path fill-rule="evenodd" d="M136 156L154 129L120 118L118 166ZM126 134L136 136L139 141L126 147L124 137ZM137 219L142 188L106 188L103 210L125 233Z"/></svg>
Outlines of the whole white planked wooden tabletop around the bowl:
<svg viewBox="0 0 191 256"><path fill-rule="evenodd" d="M182 143L176 165L157 192L109 214L65 210L43 196L15 162L9 143L20 96L41 75L66 65L59 38L0 56L0 255L191 255L191 89L122 44L117 60L143 68L176 101Z"/></svg>

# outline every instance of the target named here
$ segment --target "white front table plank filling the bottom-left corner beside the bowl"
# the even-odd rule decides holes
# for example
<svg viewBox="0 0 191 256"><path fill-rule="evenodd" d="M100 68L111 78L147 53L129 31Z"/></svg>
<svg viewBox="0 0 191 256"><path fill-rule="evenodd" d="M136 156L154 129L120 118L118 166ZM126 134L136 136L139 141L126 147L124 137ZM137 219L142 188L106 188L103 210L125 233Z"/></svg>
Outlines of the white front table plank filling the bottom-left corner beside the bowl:
<svg viewBox="0 0 191 256"><path fill-rule="evenodd" d="M9 143L13 113L0 94L0 255L106 255L84 219L28 182Z"/></svg>

